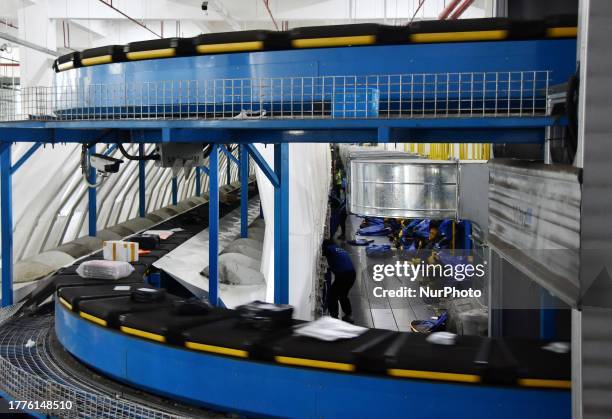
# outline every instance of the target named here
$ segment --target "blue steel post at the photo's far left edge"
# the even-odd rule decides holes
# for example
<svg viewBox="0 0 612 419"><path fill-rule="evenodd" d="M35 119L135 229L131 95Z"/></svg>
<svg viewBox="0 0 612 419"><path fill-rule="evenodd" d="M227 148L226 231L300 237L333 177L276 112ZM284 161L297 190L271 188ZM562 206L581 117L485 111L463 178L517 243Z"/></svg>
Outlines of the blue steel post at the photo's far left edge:
<svg viewBox="0 0 612 419"><path fill-rule="evenodd" d="M0 199L2 214L2 307L13 304L13 193L11 144L0 150Z"/></svg>

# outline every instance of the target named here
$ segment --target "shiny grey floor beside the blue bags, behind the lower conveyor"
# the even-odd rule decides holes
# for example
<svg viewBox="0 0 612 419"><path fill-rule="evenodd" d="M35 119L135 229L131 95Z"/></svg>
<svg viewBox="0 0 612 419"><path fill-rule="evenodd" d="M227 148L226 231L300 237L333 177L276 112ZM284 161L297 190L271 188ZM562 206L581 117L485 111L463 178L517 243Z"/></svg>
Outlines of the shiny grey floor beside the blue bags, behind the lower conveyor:
<svg viewBox="0 0 612 419"><path fill-rule="evenodd" d="M347 240L355 237L361 221L361 218L353 215L348 217L346 221ZM387 237L368 238L374 239L377 244L389 244ZM395 289L401 286L417 288L419 286L417 281L411 282L406 278L388 277L382 282L375 282L372 279L373 265L395 263L399 260L395 252L389 258L371 258L366 256L364 246L351 246L339 240L336 242L349 252L357 272L355 285L349 293L355 324L379 329L409 331L412 320L430 319L435 315L433 307L425 304L419 297L382 298L373 295L372 289L377 286L382 286L384 289Z"/></svg>

